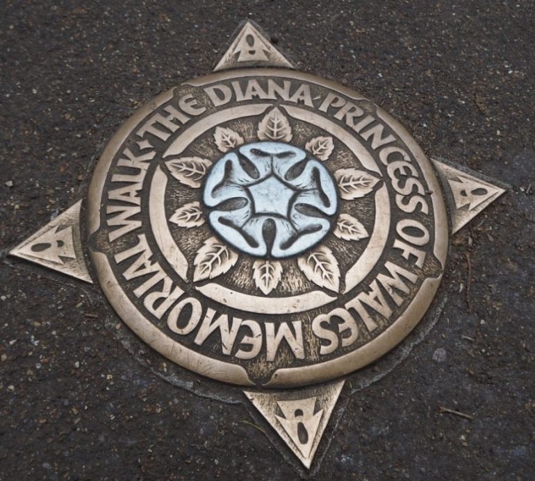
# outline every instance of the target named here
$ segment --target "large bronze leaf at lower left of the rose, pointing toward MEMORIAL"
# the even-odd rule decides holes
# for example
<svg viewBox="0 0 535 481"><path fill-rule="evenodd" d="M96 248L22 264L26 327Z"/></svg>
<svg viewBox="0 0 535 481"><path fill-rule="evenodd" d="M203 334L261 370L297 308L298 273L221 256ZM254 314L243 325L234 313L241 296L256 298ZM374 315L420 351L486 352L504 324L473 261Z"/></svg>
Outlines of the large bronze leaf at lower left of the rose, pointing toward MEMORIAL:
<svg viewBox="0 0 535 481"><path fill-rule="evenodd" d="M193 260L193 280L213 279L229 271L238 261L238 254L231 251L216 237L208 237Z"/></svg>

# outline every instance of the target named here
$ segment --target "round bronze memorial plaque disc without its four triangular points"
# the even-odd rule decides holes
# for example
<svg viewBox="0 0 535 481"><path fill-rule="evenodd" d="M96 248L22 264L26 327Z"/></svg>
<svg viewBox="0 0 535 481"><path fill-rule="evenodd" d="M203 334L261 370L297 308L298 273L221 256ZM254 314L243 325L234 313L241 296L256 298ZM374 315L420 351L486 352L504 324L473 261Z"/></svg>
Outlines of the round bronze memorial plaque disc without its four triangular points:
<svg viewBox="0 0 535 481"><path fill-rule="evenodd" d="M392 117L286 69L158 96L104 151L90 253L123 321L237 385L351 373L420 321L447 253L433 169Z"/></svg>

